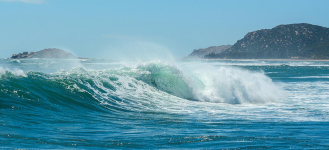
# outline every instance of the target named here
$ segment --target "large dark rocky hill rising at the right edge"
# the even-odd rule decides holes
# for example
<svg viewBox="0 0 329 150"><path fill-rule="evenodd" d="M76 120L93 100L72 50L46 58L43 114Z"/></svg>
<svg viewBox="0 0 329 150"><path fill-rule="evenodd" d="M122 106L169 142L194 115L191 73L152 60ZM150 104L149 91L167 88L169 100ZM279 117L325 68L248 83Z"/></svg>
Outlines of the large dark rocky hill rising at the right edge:
<svg viewBox="0 0 329 150"><path fill-rule="evenodd" d="M329 58L329 28L308 23L277 25L247 33L233 46L207 58Z"/></svg>

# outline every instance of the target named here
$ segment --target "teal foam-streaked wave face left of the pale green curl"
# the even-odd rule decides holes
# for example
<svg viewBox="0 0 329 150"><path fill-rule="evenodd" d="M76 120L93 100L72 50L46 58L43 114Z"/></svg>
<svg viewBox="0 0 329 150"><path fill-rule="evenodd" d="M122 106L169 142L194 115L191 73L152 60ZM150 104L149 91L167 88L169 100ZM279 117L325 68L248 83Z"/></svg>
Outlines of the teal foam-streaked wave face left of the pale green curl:
<svg viewBox="0 0 329 150"><path fill-rule="evenodd" d="M30 114L38 110L45 116L52 116L53 112L70 116L77 112L119 114L159 110L150 101L161 101L170 95L158 93L160 90L135 79L136 71L143 72L131 68L96 71L75 68L53 74L6 70L0 79L1 108L24 108L31 110Z"/></svg>

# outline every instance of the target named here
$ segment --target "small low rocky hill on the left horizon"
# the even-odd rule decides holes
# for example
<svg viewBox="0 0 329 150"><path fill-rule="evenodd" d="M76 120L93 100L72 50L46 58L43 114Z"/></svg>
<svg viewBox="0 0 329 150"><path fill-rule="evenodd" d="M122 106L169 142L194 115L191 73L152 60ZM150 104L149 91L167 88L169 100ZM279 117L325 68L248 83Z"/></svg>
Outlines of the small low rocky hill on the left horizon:
<svg viewBox="0 0 329 150"><path fill-rule="evenodd" d="M70 52L64 51L62 49L57 48L48 48L44 50L40 50L37 52L23 52L19 54L13 54L11 57L13 59L17 58L58 58L58 59L66 59L66 58L76 58Z"/></svg>

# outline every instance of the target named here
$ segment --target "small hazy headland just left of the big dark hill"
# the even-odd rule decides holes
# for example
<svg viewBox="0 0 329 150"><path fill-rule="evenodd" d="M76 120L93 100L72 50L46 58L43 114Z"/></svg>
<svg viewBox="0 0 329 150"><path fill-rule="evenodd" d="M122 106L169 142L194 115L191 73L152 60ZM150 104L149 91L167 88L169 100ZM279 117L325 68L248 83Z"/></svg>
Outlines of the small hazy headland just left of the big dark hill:
<svg viewBox="0 0 329 150"><path fill-rule="evenodd" d="M210 53L221 53L222 51L228 49L232 45L220 45L220 46L210 46L208 48L200 48L200 49L194 49L192 53L190 53L187 57L203 57L205 55L208 55Z"/></svg>

